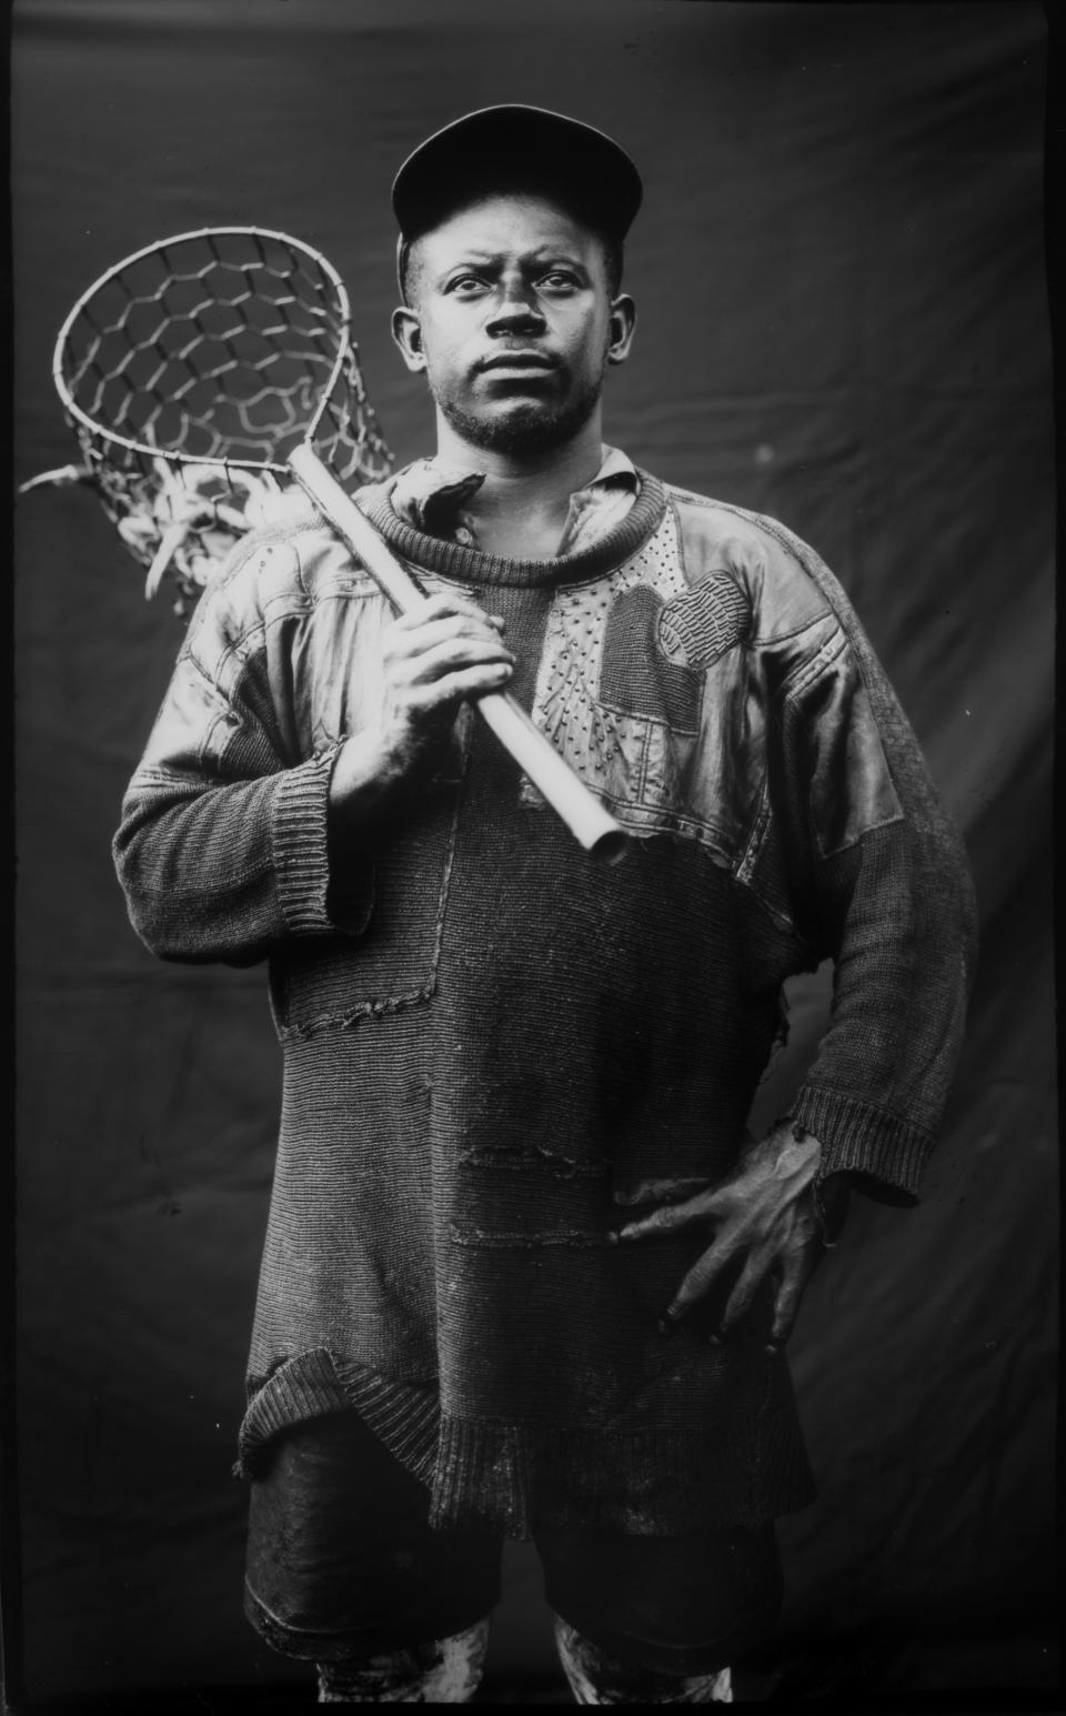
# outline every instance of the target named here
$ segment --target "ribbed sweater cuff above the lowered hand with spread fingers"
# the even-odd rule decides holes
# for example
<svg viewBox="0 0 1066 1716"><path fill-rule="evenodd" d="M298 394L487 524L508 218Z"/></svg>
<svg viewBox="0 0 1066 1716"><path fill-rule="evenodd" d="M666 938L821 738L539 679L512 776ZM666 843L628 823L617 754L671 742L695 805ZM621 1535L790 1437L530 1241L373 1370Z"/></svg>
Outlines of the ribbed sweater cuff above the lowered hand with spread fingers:
<svg viewBox="0 0 1066 1716"><path fill-rule="evenodd" d="M819 1181L829 1174L860 1174L875 1184L869 1191L886 1203L917 1203L918 1182L932 1138L886 1109L875 1109L803 1085L788 1107L788 1115L814 1133L822 1146Z"/></svg>

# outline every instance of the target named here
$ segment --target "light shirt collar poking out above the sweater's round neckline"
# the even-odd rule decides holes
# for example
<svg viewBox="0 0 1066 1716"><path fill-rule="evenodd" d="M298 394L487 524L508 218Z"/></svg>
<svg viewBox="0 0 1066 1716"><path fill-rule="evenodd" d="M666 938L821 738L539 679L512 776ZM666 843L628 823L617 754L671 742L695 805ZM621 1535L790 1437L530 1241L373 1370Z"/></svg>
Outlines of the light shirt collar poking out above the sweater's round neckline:
<svg viewBox="0 0 1066 1716"><path fill-rule="evenodd" d="M477 547L477 527L465 503L484 480L486 474L481 470L465 472L443 458L419 458L397 477L393 511L415 530ZM570 496L556 556L573 554L606 537L625 518L639 492L640 477L633 462L620 448L604 446L592 480Z"/></svg>

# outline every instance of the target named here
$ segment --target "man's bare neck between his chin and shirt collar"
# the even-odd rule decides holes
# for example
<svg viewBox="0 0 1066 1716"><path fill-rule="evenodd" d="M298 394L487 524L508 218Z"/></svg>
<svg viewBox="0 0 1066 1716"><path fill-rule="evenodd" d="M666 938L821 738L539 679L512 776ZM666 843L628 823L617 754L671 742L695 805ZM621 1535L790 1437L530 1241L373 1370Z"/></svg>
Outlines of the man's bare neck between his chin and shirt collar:
<svg viewBox="0 0 1066 1716"><path fill-rule="evenodd" d="M484 472L467 510L486 554L551 559L566 525L570 496L584 489L603 463L599 412L572 441L534 458L470 446L441 419L438 456L462 470Z"/></svg>

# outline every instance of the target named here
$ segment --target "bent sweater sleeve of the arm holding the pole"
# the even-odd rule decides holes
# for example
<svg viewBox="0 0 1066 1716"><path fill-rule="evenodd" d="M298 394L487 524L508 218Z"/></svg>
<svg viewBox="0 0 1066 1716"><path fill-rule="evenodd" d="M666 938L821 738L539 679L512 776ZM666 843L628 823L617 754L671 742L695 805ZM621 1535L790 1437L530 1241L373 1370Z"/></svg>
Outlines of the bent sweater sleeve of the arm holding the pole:
<svg viewBox="0 0 1066 1716"><path fill-rule="evenodd" d="M285 556L268 549L259 570ZM299 580L278 599L275 577L268 621L254 571L239 561L201 599L122 803L115 867L130 921L161 959L252 964L287 937L359 932L369 918L369 860L345 855L343 903L331 887L338 745L300 755L278 671L306 601Z"/></svg>

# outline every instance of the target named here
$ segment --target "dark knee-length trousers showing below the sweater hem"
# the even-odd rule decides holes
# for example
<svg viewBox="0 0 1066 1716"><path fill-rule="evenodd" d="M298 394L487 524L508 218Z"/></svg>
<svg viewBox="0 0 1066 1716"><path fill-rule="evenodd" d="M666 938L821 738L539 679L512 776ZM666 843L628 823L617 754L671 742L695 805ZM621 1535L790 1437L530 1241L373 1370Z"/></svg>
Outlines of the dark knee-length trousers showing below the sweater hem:
<svg viewBox="0 0 1066 1716"><path fill-rule="evenodd" d="M355 1412L282 1431L252 1481L245 1613L287 1656L357 1663L445 1639L500 1601L501 1541L429 1531L429 1495ZM687 1538L537 1532L549 1606L635 1668L702 1675L778 1620L772 1524Z"/></svg>

